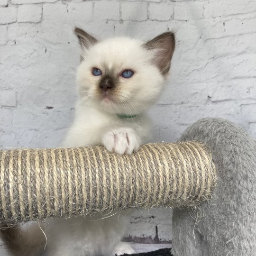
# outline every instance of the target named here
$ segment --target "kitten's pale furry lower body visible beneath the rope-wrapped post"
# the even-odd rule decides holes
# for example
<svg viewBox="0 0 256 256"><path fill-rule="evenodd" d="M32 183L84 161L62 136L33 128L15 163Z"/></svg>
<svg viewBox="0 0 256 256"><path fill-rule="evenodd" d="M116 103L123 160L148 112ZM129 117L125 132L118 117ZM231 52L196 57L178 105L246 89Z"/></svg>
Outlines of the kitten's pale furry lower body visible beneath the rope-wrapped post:
<svg viewBox="0 0 256 256"><path fill-rule="evenodd" d="M120 243L127 222L128 218L119 213L111 217L48 219L45 223L46 256L114 256L122 253L121 248L132 253L129 244Z"/></svg>

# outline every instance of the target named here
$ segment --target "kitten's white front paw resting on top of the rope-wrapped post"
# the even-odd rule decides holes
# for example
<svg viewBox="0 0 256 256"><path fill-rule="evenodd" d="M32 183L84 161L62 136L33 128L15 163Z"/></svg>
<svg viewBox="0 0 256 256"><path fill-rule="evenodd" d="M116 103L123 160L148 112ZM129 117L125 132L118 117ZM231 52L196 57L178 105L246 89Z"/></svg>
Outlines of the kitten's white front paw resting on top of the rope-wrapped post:
<svg viewBox="0 0 256 256"><path fill-rule="evenodd" d="M134 129L119 128L107 132L102 137L102 144L109 150L120 155L132 154L141 145L141 139Z"/></svg>

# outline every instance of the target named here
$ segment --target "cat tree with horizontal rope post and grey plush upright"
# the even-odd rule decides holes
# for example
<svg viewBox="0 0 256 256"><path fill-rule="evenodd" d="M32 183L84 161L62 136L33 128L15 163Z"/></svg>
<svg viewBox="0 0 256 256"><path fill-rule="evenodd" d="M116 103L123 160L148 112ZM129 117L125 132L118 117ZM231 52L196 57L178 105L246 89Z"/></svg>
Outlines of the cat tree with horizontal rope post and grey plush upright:
<svg viewBox="0 0 256 256"><path fill-rule="evenodd" d="M169 206L174 256L255 255L255 141L223 119L199 120L181 141L122 156L102 146L2 150L0 222Z"/></svg>

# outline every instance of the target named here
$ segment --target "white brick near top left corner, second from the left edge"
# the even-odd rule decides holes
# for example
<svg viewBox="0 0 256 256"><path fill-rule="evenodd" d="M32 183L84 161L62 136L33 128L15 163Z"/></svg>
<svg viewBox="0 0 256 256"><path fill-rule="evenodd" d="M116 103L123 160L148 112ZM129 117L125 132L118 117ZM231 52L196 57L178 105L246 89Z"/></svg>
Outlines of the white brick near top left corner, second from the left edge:
<svg viewBox="0 0 256 256"><path fill-rule="evenodd" d="M42 19L42 7L22 5L18 7L18 22L37 23Z"/></svg>

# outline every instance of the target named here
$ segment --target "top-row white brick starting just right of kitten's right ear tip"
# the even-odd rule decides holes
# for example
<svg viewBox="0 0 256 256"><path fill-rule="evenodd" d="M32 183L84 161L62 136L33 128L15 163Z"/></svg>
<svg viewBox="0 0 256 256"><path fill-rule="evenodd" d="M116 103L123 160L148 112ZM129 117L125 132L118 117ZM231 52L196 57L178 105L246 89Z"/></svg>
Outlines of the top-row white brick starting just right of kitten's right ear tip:
<svg viewBox="0 0 256 256"><path fill-rule="evenodd" d="M174 6L174 19L190 20L203 18L201 2L184 2Z"/></svg>

